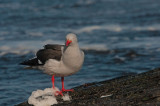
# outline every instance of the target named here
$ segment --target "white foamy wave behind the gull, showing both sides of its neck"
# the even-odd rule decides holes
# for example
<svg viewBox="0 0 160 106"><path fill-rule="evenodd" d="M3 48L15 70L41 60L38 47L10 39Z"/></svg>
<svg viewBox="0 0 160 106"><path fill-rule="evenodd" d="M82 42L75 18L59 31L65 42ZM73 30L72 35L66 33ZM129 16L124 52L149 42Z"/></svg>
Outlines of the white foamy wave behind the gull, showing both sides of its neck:
<svg viewBox="0 0 160 106"><path fill-rule="evenodd" d="M25 55L30 52L36 53L37 50L42 49L46 44L64 44L63 41L12 41L10 43L0 46L0 56L13 53L16 55ZM81 49L83 50L96 50L96 51L106 51L107 47L105 44L84 44L79 43Z"/></svg>

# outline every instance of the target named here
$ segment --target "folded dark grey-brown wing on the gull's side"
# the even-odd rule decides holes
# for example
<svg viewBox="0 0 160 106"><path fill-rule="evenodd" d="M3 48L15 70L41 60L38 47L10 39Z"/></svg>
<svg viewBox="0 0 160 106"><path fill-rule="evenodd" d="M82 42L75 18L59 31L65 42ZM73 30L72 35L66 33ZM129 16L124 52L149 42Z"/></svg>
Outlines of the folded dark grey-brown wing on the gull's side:
<svg viewBox="0 0 160 106"><path fill-rule="evenodd" d="M38 60L40 60L44 64L48 59L56 59L60 61L62 52L60 50L41 49L37 52L36 55Z"/></svg>

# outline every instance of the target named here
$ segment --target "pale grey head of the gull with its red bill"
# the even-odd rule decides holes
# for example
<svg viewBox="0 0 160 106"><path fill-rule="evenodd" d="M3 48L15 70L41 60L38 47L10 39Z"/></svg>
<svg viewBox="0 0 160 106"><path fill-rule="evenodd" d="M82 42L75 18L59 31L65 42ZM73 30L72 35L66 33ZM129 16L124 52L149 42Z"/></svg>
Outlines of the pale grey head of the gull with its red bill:
<svg viewBox="0 0 160 106"><path fill-rule="evenodd" d="M73 33L69 33L66 36L66 46L74 45L77 43L77 36Z"/></svg>

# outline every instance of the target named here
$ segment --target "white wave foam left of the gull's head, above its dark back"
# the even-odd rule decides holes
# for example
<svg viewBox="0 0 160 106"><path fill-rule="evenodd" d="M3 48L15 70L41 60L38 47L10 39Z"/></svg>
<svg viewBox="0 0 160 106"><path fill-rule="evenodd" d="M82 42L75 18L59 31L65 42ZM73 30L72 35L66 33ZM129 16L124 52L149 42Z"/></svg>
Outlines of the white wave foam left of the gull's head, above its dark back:
<svg viewBox="0 0 160 106"><path fill-rule="evenodd" d="M43 48L45 44L63 44L61 41L10 41L9 43L2 43L5 45L0 46L0 55L13 53L17 55L24 55L29 52L36 52Z"/></svg>

